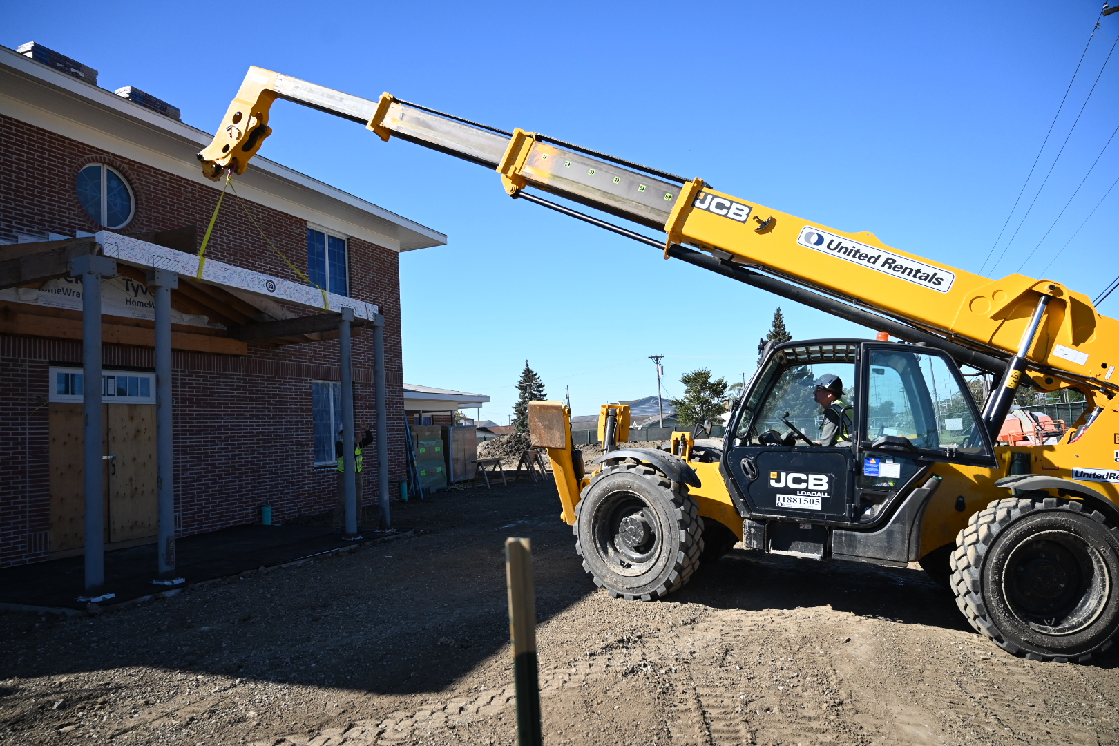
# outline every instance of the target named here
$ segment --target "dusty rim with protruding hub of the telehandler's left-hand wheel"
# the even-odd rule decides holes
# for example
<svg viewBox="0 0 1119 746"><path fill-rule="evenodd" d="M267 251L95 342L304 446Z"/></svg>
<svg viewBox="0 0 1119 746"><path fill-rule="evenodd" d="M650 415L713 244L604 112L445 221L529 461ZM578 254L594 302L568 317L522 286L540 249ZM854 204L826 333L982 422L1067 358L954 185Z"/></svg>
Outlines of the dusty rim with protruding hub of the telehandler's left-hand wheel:
<svg viewBox="0 0 1119 746"><path fill-rule="evenodd" d="M640 495L624 490L610 494L599 503L592 526L595 551L614 573L638 576L656 564L662 531Z"/></svg>

